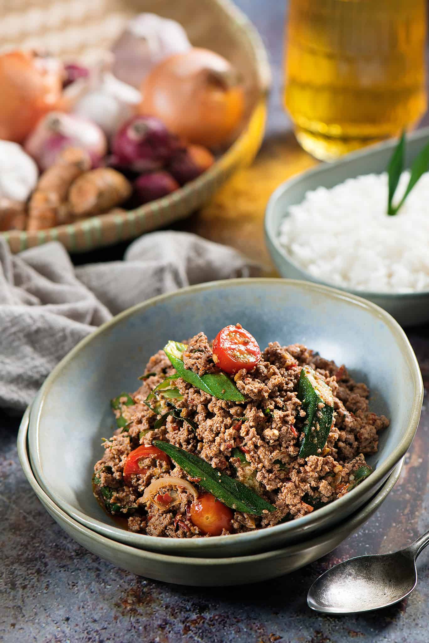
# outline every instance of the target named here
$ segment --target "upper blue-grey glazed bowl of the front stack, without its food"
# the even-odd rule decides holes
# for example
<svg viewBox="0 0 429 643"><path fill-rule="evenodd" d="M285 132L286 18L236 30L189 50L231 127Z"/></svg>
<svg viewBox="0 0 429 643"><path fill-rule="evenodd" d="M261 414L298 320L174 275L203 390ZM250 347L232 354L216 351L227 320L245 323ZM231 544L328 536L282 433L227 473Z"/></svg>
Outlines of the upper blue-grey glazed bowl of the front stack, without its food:
<svg viewBox="0 0 429 643"><path fill-rule="evenodd" d="M282 525L245 534L169 539L133 534L100 508L91 489L102 437L114 430L109 400L134 391L147 359L169 339L204 331L209 338L240 322L261 347L304 343L345 363L370 388L371 407L390 426L375 471L350 493ZM373 303L318 284L283 279L237 279L189 287L118 315L80 342L53 370L37 395L28 444L32 469L62 511L91 530L132 547L176 556L242 556L299 543L342 523L367 502L410 446L423 383L405 333Z"/></svg>

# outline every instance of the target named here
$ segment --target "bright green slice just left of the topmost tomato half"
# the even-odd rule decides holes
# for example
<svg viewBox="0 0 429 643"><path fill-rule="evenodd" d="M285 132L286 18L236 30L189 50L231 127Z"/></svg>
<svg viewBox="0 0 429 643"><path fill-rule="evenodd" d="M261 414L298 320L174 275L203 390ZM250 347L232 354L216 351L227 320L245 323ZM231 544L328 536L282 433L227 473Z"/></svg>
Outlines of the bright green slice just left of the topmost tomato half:
<svg viewBox="0 0 429 643"><path fill-rule="evenodd" d="M213 397L220 400L229 400L231 402L244 402L246 397L238 390L237 386L224 373L206 373L199 376L193 370L185 368L183 364L183 355L187 350L187 345L179 341L170 340L164 347L164 352L169 358L172 366L176 368L179 377L188 384L205 391Z"/></svg>

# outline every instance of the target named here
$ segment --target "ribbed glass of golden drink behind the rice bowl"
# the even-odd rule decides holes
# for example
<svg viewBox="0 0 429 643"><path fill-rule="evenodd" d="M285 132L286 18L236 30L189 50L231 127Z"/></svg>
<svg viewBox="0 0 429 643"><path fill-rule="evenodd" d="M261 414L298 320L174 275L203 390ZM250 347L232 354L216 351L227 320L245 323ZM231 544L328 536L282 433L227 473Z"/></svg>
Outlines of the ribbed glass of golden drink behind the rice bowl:
<svg viewBox="0 0 429 643"><path fill-rule="evenodd" d="M290 0L284 102L297 139L330 160L426 110L426 0Z"/></svg>

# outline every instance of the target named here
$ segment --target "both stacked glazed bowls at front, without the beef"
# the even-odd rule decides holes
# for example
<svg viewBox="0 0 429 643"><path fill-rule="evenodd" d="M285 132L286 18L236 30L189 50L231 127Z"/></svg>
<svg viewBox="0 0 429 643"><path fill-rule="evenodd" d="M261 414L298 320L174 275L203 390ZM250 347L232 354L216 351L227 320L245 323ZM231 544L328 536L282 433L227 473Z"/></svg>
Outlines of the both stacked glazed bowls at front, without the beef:
<svg viewBox="0 0 429 643"><path fill-rule="evenodd" d="M214 337L241 321L259 341L305 343L345 363L390 426L369 458L374 473L304 518L244 534L169 539L122 529L91 487L109 400L135 390L147 359L171 338ZM419 421L423 383L396 321L376 305L318 284L243 279L183 289L125 311L62 360L24 415L19 455L51 516L91 552L145 577L190 585L250 583L287 574L336 547L369 518L397 481Z"/></svg>

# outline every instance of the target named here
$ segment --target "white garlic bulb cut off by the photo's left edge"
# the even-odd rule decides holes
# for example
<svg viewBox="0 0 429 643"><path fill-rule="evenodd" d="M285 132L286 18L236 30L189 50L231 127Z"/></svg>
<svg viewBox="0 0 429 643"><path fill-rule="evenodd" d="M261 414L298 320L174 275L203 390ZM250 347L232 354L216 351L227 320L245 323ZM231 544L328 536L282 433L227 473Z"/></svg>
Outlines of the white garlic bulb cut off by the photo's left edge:
<svg viewBox="0 0 429 643"><path fill-rule="evenodd" d="M0 140L0 197L26 201L34 190L39 170L21 145Z"/></svg>

